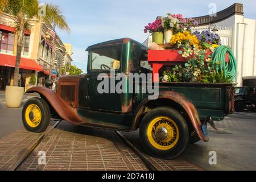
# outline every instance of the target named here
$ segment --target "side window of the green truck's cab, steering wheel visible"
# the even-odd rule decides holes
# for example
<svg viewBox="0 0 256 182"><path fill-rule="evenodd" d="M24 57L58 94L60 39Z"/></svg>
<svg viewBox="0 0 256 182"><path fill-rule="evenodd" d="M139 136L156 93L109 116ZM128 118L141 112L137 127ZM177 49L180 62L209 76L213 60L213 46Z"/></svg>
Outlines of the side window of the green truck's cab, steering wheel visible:
<svg viewBox="0 0 256 182"><path fill-rule="evenodd" d="M92 50L90 55L91 71L110 71L120 68L121 46L97 48Z"/></svg>

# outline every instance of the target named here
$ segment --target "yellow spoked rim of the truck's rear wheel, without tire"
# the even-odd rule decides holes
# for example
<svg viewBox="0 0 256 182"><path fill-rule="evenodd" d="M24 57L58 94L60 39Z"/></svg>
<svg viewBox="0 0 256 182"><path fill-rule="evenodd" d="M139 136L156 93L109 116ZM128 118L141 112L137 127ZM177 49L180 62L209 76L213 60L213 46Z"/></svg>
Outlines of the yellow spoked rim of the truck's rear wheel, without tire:
<svg viewBox="0 0 256 182"><path fill-rule="evenodd" d="M157 117L149 123L147 137L155 148L170 150L179 140L179 128L171 118Z"/></svg>

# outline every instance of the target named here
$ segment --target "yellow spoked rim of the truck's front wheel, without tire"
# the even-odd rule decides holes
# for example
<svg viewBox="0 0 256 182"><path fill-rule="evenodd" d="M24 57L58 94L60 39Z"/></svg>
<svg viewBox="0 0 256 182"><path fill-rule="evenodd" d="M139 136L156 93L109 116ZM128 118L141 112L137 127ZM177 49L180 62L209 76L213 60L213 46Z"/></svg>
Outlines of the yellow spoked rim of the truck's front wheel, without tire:
<svg viewBox="0 0 256 182"><path fill-rule="evenodd" d="M31 104L27 106L26 113L26 122L30 127L37 127L42 120L42 112L38 105Z"/></svg>

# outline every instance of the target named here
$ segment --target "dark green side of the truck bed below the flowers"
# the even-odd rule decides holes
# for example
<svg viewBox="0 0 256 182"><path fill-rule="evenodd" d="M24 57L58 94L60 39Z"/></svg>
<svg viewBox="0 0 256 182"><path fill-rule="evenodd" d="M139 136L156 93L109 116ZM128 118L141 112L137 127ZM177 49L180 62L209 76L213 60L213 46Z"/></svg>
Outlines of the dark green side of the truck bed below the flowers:
<svg viewBox="0 0 256 182"><path fill-rule="evenodd" d="M200 119L212 116L221 121L225 115L233 114L234 89L232 84L200 82L159 82L159 92L174 91L184 94L195 104ZM142 96L146 98L145 95Z"/></svg>

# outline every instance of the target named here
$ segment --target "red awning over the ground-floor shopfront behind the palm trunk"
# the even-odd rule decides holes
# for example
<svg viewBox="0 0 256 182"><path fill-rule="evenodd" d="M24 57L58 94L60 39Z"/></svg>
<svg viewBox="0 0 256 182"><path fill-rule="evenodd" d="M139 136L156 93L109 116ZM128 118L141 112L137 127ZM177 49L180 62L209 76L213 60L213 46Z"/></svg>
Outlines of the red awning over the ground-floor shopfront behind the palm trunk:
<svg viewBox="0 0 256 182"><path fill-rule="evenodd" d="M0 53L0 65L4 67L15 67L15 61L16 61L16 56L13 55L5 55ZM35 60L32 59L26 59L22 57L20 59L20 65L19 68L22 69L30 69L30 70L35 70L35 71L43 71L43 67L36 63Z"/></svg>

